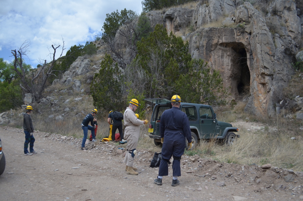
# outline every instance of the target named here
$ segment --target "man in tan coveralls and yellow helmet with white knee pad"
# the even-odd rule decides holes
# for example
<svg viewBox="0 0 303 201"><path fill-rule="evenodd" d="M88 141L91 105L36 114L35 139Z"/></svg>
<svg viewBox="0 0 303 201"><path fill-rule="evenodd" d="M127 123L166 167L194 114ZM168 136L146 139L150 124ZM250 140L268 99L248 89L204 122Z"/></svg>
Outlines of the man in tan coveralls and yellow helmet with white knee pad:
<svg viewBox="0 0 303 201"><path fill-rule="evenodd" d="M138 172L135 172L137 168L133 167L134 157L137 153L137 144L140 137L140 125L148 124L147 120L140 120L136 117L135 111L139 104L138 100L132 99L129 101L129 106L126 107L126 110L123 115L124 119L124 138L127 140L127 152L125 154L124 162L126 163L125 171L129 175L138 175Z"/></svg>

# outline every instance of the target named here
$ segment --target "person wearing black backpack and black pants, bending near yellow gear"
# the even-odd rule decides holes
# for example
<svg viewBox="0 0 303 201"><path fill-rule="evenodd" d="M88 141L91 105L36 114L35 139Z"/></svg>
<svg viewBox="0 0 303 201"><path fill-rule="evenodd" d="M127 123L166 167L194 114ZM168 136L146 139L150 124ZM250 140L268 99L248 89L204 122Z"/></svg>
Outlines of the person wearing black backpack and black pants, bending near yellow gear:
<svg viewBox="0 0 303 201"><path fill-rule="evenodd" d="M120 133L120 141L124 140L123 138L123 126L122 126L122 119L123 119L123 114L121 112L117 111L109 111L107 122L110 125L111 124L111 119L113 122L112 125L112 141L115 141L115 133L118 128L118 131Z"/></svg>

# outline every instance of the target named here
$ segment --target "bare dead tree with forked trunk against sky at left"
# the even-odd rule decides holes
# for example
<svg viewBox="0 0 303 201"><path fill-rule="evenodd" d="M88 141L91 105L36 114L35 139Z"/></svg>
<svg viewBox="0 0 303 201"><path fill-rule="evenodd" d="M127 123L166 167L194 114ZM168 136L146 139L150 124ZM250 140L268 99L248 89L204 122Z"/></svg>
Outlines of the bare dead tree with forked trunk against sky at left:
<svg viewBox="0 0 303 201"><path fill-rule="evenodd" d="M64 51L64 40L63 41L63 46L62 46L62 51L60 56L56 59L55 55L57 52L57 49L61 47L59 44L53 44L52 45L52 52L51 50L49 53L49 56L51 58L51 61L49 63L46 62L46 60L43 61L43 65L37 69L37 71L32 71L31 74L28 74L28 72L25 70L23 66L23 60L22 57L26 56L28 51L28 46L30 45L29 40L26 40L22 46L18 49L18 51L12 50L12 54L15 58L14 61L14 70L18 74L18 77L21 79L21 84L20 87L25 93L30 93L33 94L34 98L36 101L39 101L41 97L43 97L43 92L46 87L46 83L48 80L48 77L53 74L53 68L55 66L55 63L58 59L61 58L63 51ZM51 49L49 48L49 49Z"/></svg>

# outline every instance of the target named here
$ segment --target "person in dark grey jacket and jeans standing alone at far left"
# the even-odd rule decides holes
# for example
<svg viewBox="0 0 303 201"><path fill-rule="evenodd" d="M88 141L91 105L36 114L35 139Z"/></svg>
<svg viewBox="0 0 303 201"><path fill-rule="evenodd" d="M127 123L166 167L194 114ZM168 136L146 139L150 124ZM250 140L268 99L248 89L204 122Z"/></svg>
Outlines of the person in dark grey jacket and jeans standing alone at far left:
<svg viewBox="0 0 303 201"><path fill-rule="evenodd" d="M33 136L34 127L32 123L32 118L29 116L33 111L33 107L28 105L25 108L25 114L23 114L23 129L25 133L25 142L24 142L24 155L33 155L38 152L34 151L34 142L35 138ZM28 144L29 144L29 151L28 152Z"/></svg>

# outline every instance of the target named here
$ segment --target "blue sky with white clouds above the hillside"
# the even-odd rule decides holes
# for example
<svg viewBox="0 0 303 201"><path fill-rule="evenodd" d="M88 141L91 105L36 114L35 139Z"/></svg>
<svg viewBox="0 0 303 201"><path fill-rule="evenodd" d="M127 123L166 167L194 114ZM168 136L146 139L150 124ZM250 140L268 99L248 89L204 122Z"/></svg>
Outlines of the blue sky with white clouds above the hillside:
<svg viewBox="0 0 303 201"><path fill-rule="evenodd" d="M51 61L51 46L74 45L93 41L107 13L123 9L141 14L142 0L0 0L0 58L14 60L11 50L29 42L25 63L36 67L40 60ZM63 38L63 40L62 40ZM59 56L62 49L58 50ZM58 53L59 52L59 53Z"/></svg>

